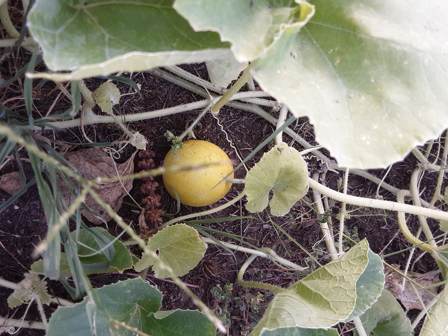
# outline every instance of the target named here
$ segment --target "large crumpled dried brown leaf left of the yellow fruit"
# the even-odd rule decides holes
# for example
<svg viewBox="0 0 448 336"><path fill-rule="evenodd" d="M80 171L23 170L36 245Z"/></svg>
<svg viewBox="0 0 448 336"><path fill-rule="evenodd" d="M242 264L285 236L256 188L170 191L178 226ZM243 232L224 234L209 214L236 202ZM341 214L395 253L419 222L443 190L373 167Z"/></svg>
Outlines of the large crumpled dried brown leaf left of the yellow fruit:
<svg viewBox="0 0 448 336"><path fill-rule="evenodd" d="M123 164L116 164L119 176L125 177L134 172L134 156L135 153ZM89 148L74 151L65 155L65 159L73 165L74 168L81 172L82 177L88 180L94 180L98 177L116 177L116 169L113 159L102 149ZM100 182L95 188L95 192L108 203L113 211L118 211L123 202L123 197L132 189L133 179L122 179L123 186L120 181ZM127 192L126 192L127 190ZM71 204L74 201L74 196L68 190L64 190L64 197L67 203ZM91 210L96 211L104 220L112 219L106 211L100 207L91 197L87 195L84 202ZM90 214L84 209L81 209L81 214L93 224L101 224L103 221Z"/></svg>

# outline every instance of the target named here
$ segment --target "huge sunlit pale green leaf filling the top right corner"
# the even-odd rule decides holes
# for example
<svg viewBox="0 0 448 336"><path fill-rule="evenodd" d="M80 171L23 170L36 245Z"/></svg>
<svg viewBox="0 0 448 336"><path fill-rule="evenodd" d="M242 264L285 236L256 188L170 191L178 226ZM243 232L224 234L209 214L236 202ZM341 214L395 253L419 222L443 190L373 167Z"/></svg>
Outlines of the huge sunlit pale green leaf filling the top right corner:
<svg viewBox="0 0 448 336"><path fill-rule="evenodd" d="M448 3L322 0L251 69L342 167L382 168L448 126Z"/></svg>

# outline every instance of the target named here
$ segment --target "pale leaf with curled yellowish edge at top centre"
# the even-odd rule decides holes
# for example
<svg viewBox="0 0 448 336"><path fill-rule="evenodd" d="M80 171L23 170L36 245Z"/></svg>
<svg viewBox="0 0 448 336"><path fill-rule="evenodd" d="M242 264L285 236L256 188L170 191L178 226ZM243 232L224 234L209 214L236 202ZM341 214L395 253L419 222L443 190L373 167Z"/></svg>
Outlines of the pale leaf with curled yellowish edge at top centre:
<svg viewBox="0 0 448 336"><path fill-rule="evenodd" d="M243 63L262 56L284 25L300 29L314 13L305 1L297 0L293 6L282 2L176 0L173 7L194 30L218 32L222 41L232 44L236 60Z"/></svg>

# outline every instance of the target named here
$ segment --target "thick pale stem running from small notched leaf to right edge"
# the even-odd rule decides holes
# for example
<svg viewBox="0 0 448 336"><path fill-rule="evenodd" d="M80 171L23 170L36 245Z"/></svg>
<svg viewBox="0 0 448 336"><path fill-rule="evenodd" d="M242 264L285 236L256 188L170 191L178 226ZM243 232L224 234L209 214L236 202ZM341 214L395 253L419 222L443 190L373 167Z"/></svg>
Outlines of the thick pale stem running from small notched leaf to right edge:
<svg viewBox="0 0 448 336"><path fill-rule="evenodd" d="M321 185L319 182L314 181L312 178L308 178L308 183L310 184L310 188L312 188L313 190L316 190L319 193L328 196L329 198L333 198L336 201L347 202L349 204L358 205L360 207L374 207L384 210L402 211L413 215L423 215L426 217L431 217L437 220L448 220L447 212L426 209L424 207L416 207L414 205L404 203L384 201L381 199L362 198L357 196L345 195L336 190L332 190ZM409 191L403 190L403 196L406 194L406 192Z"/></svg>

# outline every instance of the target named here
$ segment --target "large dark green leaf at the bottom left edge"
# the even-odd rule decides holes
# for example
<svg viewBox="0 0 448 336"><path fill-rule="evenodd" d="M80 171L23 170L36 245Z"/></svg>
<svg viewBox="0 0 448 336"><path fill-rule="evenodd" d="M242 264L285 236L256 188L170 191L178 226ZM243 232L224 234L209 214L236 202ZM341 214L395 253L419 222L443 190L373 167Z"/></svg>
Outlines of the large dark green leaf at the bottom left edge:
<svg viewBox="0 0 448 336"><path fill-rule="evenodd" d="M60 336L61 331L67 336L91 335L89 319L96 335L104 336L136 335L117 322L150 335L214 336L216 332L213 323L198 310L175 310L157 316L162 293L140 277L93 289L92 294L93 300L85 297L73 307L58 307L50 318L47 336Z"/></svg>

